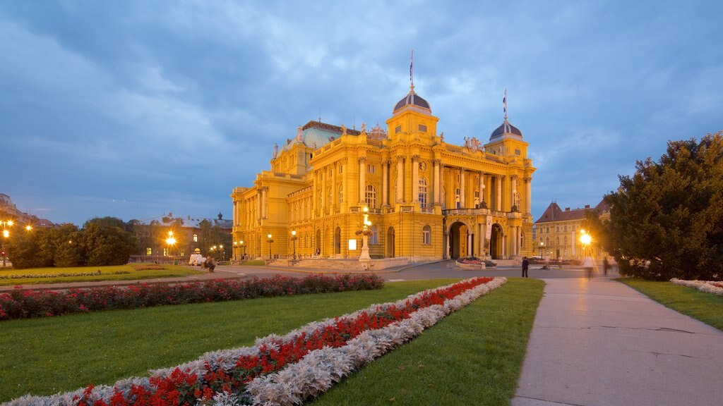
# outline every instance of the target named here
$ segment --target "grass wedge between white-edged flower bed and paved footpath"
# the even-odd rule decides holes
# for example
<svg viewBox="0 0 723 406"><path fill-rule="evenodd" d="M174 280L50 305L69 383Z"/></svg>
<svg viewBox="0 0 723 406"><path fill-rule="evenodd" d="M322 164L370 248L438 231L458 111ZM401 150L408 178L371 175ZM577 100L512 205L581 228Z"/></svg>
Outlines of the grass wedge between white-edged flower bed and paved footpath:
<svg viewBox="0 0 723 406"><path fill-rule="evenodd" d="M510 279L313 405L509 405L543 288Z"/></svg>

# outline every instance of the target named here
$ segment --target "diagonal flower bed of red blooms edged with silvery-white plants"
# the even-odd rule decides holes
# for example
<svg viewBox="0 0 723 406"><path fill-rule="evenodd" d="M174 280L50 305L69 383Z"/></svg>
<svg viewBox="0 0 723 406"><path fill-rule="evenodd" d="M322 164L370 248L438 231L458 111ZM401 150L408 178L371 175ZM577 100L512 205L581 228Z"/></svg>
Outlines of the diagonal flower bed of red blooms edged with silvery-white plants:
<svg viewBox="0 0 723 406"><path fill-rule="evenodd" d="M8 405L298 405L505 282L464 280L313 322L283 337L272 334L254 347L206 353L152 371L149 378L51 397L25 396Z"/></svg>

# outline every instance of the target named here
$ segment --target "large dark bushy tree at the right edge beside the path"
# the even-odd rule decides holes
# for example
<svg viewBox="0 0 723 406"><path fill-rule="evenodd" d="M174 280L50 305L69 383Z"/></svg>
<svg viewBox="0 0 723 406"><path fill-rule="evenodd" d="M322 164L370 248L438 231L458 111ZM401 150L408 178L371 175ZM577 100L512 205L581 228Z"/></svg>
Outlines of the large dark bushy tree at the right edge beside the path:
<svg viewBox="0 0 723 406"><path fill-rule="evenodd" d="M646 279L723 279L723 131L669 141L659 162L605 196L607 236L620 271Z"/></svg>

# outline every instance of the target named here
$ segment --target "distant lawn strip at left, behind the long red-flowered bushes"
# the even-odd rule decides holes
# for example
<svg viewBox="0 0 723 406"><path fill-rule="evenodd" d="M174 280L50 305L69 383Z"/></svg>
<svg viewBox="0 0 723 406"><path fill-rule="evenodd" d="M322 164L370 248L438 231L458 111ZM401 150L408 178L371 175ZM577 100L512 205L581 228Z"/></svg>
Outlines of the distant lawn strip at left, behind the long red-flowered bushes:
<svg viewBox="0 0 723 406"><path fill-rule="evenodd" d="M144 269L161 268L161 269ZM87 272L98 272L100 275L80 276ZM138 280L158 277L181 277L205 273L200 269L181 265L132 264L111 267L68 267L68 268L30 268L0 270L0 285L38 285L43 283L95 282L99 280ZM65 276L55 276L65 274ZM9 278L10 276L12 278ZM24 276L16 278L17 276ZM38 275L43 275L39 277Z"/></svg>

